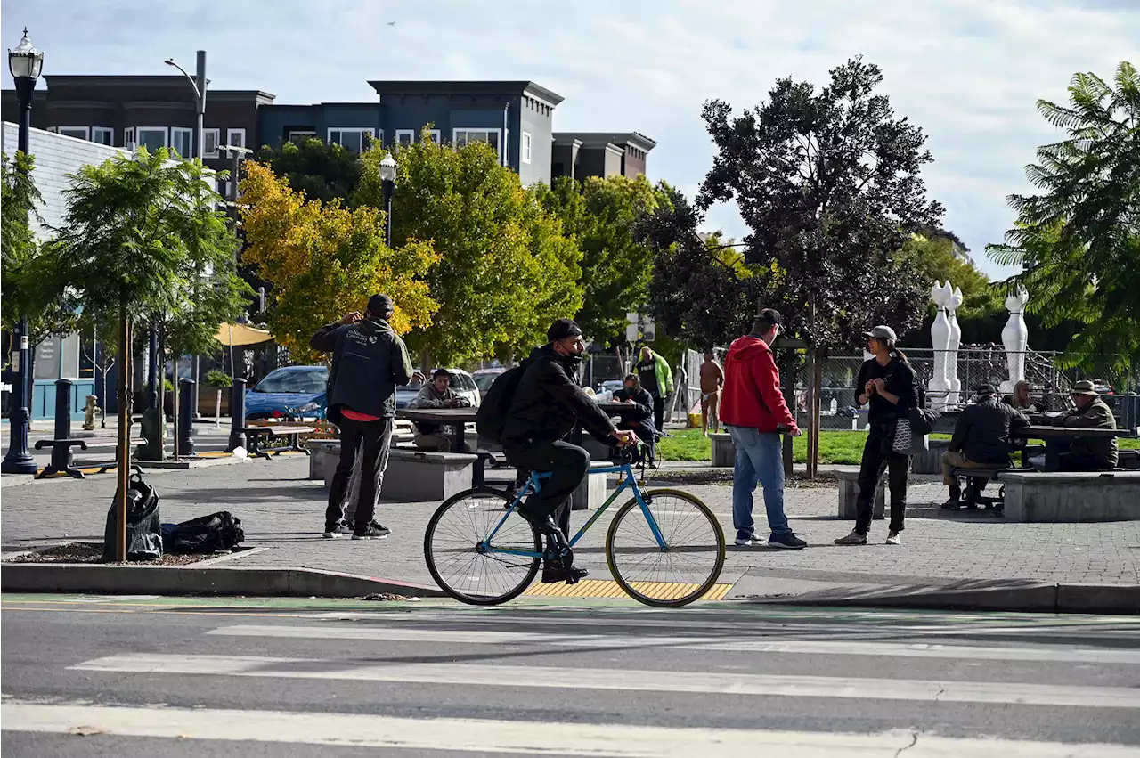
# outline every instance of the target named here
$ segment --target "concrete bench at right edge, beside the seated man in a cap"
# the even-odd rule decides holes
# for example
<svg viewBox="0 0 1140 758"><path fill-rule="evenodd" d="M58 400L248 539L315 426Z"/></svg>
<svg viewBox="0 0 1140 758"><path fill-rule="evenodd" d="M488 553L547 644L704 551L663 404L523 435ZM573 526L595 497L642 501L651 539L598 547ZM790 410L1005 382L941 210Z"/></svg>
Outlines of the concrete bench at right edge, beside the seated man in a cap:
<svg viewBox="0 0 1140 758"><path fill-rule="evenodd" d="M1140 471L1003 471L1001 481L1009 521L1140 521Z"/></svg>

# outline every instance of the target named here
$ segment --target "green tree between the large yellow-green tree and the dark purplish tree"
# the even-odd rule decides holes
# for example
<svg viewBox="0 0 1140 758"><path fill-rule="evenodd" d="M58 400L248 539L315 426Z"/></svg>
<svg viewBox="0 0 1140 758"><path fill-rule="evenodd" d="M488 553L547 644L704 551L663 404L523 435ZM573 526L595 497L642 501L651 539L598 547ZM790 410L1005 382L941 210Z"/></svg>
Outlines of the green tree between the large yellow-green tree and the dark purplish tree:
<svg viewBox="0 0 1140 758"><path fill-rule="evenodd" d="M583 253L583 305L575 319L589 337L624 340L626 315L649 296L653 254L634 238L634 227L657 207L657 190L644 176L614 176L585 182L562 177L536 191Z"/></svg>

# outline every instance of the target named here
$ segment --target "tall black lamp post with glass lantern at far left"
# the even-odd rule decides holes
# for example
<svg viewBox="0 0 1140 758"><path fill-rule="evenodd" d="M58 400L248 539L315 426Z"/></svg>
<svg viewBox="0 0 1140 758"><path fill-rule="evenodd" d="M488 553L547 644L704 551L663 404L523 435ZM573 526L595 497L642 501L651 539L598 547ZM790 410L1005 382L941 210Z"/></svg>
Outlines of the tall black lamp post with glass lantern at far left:
<svg viewBox="0 0 1140 758"><path fill-rule="evenodd" d="M28 133L32 130L32 93L35 91L35 80L43 70L43 54L32 47L32 40L24 28L24 39L15 50L8 50L8 68L16 80L16 97L19 98L19 139L17 148L24 155L30 153ZM0 472L6 474L34 474L36 466L32 454L27 450L27 430L31 422L28 405L31 402L32 374L28 372L28 324L27 316L19 319L19 374L13 388L8 454L0 463Z"/></svg>

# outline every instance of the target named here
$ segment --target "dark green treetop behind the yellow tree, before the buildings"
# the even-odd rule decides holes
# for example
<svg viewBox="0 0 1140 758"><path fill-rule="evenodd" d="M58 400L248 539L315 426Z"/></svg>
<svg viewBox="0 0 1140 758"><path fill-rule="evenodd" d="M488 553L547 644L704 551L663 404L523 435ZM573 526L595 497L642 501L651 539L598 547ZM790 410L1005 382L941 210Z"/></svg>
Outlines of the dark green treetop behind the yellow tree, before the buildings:
<svg viewBox="0 0 1140 758"><path fill-rule="evenodd" d="M360 186L360 156L316 137L290 140L277 148L263 146L258 150L258 162L284 177L307 199L348 203Z"/></svg>

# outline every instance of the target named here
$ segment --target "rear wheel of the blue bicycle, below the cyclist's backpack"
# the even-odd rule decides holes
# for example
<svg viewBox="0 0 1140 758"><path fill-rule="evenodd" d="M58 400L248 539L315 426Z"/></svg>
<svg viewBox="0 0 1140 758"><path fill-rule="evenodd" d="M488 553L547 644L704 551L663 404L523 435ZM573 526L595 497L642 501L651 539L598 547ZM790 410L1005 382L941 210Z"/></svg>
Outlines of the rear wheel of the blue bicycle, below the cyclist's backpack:
<svg viewBox="0 0 1140 758"><path fill-rule="evenodd" d="M499 549L543 552L538 530L518 511L514 498L492 489L472 489L446 500L427 522L424 561L440 589L471 605L497 605L521 595L538 574L540 559L489 553L481 546L495 535Z"/></svg>

